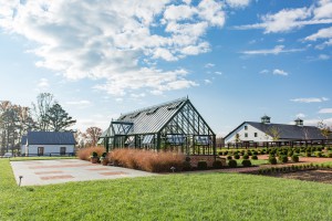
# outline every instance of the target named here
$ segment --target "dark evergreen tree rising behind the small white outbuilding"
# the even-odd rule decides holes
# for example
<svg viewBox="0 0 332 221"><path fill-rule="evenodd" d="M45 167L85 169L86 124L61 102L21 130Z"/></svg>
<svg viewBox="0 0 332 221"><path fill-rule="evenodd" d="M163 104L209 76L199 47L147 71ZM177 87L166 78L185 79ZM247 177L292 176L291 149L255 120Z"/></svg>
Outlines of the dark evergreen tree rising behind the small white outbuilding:
<svg viewBox="0 0 332 221"><path fill-rule="evenodd" d="M66 131L66 128L76 123L69 114L61 107L60 104L55 103L45 113L46 128L52 131Z"/></svg>

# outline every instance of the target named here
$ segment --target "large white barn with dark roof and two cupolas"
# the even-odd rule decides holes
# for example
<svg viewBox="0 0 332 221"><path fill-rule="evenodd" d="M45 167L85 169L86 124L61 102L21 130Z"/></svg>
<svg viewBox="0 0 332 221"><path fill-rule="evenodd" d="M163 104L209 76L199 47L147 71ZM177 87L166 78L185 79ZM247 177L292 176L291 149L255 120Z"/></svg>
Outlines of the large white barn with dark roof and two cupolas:
<svg viewBox="0 0 332 221"><path fill-rule="evenodd" d="M271 124L270 117L261 117L261 122L243 122L225 137L225 144L261 145L262 143L314 141L325 139L318 127L303 126L302 119L294 125Z"/></svg>

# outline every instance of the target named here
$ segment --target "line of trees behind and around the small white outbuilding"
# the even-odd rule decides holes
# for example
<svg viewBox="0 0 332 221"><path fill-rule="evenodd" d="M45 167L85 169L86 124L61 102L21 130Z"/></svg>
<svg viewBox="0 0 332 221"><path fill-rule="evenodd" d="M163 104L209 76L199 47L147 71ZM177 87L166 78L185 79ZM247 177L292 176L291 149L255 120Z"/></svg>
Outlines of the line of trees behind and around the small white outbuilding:
<svg viewBox="0 0 332 221"><path fill-rule="evenodd" d="M95 146L102 129L90 127L85 133L73 130L75 123L51 93L39 94L31 107L0 101L0 152L19 150L21 138L29 130L73 131L79 147Z"/></svg>

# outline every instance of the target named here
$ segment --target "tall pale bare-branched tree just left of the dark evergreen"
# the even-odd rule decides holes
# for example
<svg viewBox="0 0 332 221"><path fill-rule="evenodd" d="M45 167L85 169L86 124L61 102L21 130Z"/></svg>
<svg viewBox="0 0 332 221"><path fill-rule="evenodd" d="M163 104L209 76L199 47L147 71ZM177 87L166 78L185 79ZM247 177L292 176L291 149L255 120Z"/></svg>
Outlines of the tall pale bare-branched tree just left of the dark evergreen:
<svg viewBox="0 0 332 221"><path fill-rule="evenodd" d="M49 131L49 122L46 118L49 109L54 104L54 97L50 93L41 93L37 96L37 104L32 103L32 110L35 120L35 129Z"/></svg>

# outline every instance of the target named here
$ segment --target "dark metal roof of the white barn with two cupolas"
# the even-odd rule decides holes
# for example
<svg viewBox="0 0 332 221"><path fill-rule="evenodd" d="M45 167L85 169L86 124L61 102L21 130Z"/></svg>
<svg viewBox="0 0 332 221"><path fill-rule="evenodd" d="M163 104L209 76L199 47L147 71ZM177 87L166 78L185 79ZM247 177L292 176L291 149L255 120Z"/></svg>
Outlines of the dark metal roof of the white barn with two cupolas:
<svg viewBox="0 0 332 221"><path fill-rule="evenodd" d="M286 124L263 124L258 122L243 122L236 129L229 133L226 137L231 135L235 130L241 127L243 124L249 124L257 129L271 135L271 128L278 128L280 131L279 139L325 139L322 136L321 130L314 126L297 126L297 125L286 125ZM225 137L225 138L226 138Z"/></svg>

